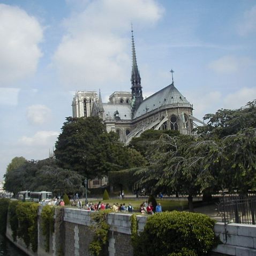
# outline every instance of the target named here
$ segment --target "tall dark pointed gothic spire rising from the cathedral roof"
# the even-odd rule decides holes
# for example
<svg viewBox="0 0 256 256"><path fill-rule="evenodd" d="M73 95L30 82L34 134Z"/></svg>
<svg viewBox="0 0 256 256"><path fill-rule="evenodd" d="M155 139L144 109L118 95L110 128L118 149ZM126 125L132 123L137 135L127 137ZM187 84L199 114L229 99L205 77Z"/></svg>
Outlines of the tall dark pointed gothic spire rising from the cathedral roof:
<svg viewBox="0 0 256 256"><path fill-rule="evenodd" d="M131 83L132 83L132 111L134 112L143 101L142 97L142 87L140 84L140 72L137 65L137 58L135 52L135 44L134 44L134 36L133 36L133 29L132 32L132 74L131 74Z"/></svg>

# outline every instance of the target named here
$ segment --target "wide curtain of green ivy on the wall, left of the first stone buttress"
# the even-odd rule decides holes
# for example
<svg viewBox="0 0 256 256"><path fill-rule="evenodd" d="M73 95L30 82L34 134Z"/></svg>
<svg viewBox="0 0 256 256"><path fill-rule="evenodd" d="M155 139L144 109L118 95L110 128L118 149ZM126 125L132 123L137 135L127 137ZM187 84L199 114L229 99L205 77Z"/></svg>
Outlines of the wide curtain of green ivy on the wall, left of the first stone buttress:
<svg viewBox="0 0 256 256"><path fill-rule="evenodd" d="M33 252L37 250L37 208L34 202L20 202L16 209L18 237L24 240L27 248L31 245Z"/></svg>

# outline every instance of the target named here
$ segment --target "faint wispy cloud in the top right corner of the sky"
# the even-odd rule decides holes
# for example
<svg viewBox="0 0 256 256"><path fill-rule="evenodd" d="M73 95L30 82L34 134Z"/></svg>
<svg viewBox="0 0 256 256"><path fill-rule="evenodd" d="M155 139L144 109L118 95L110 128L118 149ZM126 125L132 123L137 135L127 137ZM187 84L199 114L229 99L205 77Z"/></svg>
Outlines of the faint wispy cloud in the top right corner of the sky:
<svg viewBox="0 0 256 256"><path fill-rule="evenodd" d="M238 33L242 36L256 33L256 5L244 13L244 20L238 25Z"/></svg>

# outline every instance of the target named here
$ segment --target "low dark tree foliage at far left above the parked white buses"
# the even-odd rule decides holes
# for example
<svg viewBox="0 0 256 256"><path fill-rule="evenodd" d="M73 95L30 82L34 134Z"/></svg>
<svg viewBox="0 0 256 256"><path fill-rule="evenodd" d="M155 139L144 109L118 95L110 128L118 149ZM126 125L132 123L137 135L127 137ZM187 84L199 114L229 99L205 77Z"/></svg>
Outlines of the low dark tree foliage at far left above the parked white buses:
<svg viewBox="0 0 256 256"><path fill-rule="evenodd" d="M77 172L59 168L55 159L27 161L5 174L5 189L14 194L22 190L74 193L82 189L81 182Z"/></svg>

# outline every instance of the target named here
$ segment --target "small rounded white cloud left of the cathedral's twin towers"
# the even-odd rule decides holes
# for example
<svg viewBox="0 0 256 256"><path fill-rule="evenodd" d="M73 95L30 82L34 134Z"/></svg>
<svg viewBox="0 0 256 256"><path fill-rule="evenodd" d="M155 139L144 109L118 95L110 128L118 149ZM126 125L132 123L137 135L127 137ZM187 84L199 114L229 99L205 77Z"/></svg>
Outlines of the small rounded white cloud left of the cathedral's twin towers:
<svg viewBox="0 0 256 256"><path fill-rule="evenodd" d="M32 124L43 124L51 119L51 110L44 105L32 105L27 108L27 119Z"/></svg>

